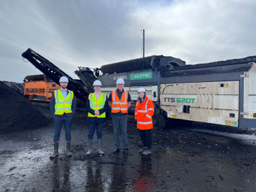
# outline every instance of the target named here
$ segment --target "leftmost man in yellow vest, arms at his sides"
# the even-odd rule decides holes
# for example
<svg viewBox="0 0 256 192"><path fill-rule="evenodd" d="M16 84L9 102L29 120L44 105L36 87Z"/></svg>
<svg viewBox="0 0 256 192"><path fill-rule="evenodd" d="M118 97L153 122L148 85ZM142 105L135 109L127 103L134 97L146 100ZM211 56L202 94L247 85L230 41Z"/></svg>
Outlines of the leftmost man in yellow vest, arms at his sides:
<svg viewBox="0 0 256 192"><path fill-rule="evenodd" d="M54 152L50 158L54 158L59 154L59 141L62 123L65 126L66 136L66 154L71 156L71 124L75 111L77 109L74 93L67 90L68 78L60 78L60 90L55 90L51 96L50 110L54 118L55 133L53 137Z"/></svg>

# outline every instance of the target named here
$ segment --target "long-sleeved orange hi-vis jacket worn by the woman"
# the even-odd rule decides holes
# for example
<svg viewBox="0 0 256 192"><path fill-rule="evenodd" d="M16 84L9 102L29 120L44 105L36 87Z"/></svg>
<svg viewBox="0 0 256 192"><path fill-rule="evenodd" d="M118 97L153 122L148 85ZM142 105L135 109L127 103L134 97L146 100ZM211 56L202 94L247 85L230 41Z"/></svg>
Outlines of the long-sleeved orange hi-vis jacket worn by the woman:
<svg viewBox="0 0 256 192"><path fill-rule="evenodd" d="M152 116L154 111L153 102L147 96L141 104L139 101L136 102L134 118L137 120L138 129L145 130L153 128Z"/></svg>

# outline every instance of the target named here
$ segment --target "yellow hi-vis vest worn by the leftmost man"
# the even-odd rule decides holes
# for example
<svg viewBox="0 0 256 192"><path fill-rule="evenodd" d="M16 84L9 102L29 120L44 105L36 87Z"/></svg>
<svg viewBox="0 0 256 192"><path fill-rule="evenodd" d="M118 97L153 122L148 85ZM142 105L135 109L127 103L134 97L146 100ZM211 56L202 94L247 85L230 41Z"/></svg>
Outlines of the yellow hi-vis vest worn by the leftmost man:
<svg viewBox="0 0 256 192"><path fill-rule="evenodd" d="M68 90L68 95L64 99L60 90L54 91L55 96L55 115L63 115L64 113L72 113L72 100L74 93Z"/></svg>

